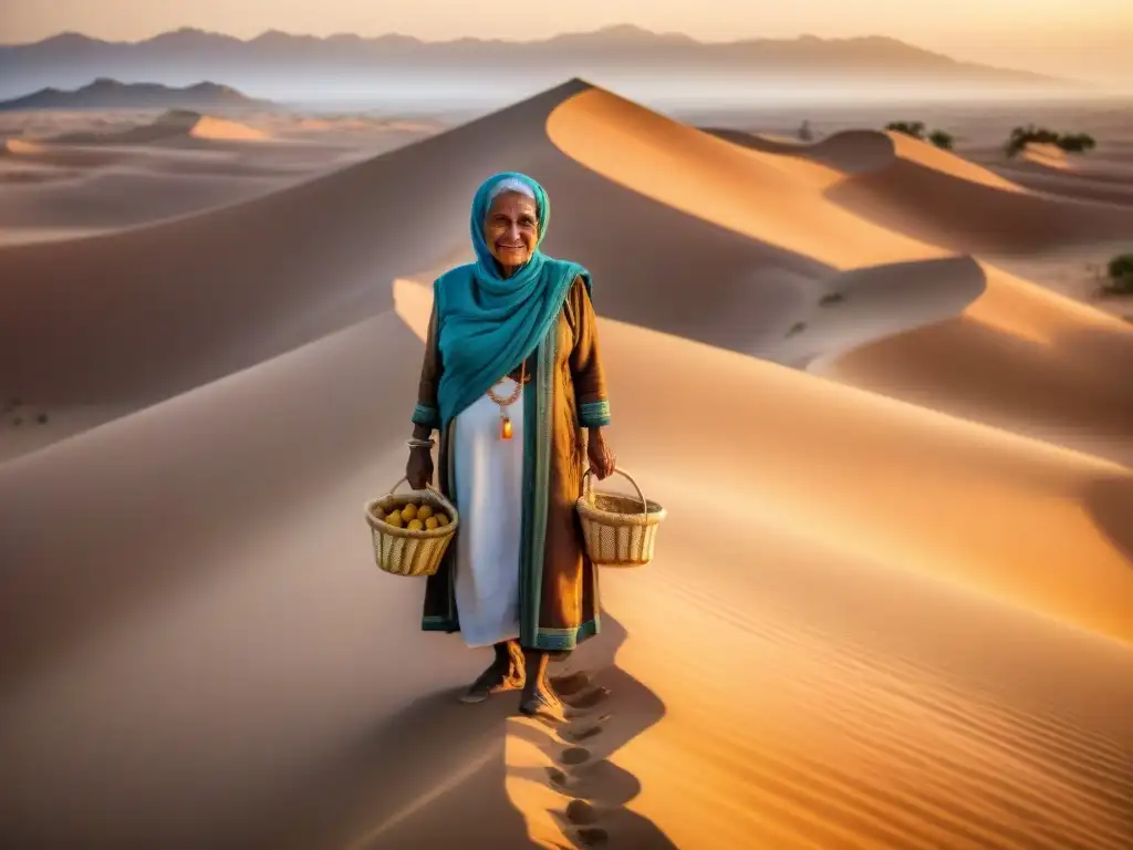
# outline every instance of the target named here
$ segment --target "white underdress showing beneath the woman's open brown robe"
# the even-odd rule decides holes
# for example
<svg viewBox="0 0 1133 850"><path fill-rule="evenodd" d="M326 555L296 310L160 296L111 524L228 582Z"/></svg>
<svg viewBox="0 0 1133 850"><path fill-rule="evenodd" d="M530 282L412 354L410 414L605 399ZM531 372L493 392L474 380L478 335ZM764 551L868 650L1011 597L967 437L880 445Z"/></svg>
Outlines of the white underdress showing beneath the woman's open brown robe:
<svg viewBox="0 0 1133 850"><path fill-rule="evenodd" d="M492 388L510 398L516 382ZM455 420L457 612L470 647L519 637L519 545L523 494L523 396L506 408L511 440L500 437L500 406L487 394Z"/></svg>

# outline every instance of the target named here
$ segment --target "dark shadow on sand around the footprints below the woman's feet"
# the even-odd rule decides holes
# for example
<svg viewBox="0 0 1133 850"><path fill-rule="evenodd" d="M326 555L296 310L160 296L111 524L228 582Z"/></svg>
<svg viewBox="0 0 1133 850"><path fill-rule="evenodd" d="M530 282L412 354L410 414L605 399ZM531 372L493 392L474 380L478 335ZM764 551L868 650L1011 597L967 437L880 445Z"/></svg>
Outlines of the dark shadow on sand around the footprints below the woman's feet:
<svg viewBox="0 0 1133 850"><path fill-rule="evenodd" d="M457 702L458 691L433 694L350 742L322 771L308 773L301 787L247 813L242 824L225 831L231 845L544 847L529 836L527 819L508 794L511 775L563 794L562 807L551 813L573 842L562 848L611 845L623 833L640 850L675 848L655 824L624 808L640 792L640 782L606 760L665 712L656 695L614 665L625 638L624 628L606 615L595 638L600 645L585 653L588 672L562 677L552 669L564 702L578 706L565 724L520 719L516 695L469 706ZM607 722L611 717L614 722ZM555 765L509 771L509 734L536 743ZM568 750L589 757L568 765L573 760Z"/></svg>

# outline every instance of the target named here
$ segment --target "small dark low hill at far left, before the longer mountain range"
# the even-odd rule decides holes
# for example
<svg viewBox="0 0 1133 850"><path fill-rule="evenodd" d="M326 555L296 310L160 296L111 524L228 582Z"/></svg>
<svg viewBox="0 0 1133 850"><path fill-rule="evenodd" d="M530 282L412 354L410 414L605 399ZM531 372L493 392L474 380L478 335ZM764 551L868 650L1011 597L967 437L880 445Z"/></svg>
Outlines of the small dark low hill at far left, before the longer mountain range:
<svg viewBox="0 0 1133 850"><path fill-rule="evenodd" d="M157 83L120 83L100 77L91 85L63 92L58 88L40 91L0 101L0 111L32 109L221 109L231 107L271 107L269 101L257 101L245 94L218 85L197 83L185 88L173 88Z"/></svg>

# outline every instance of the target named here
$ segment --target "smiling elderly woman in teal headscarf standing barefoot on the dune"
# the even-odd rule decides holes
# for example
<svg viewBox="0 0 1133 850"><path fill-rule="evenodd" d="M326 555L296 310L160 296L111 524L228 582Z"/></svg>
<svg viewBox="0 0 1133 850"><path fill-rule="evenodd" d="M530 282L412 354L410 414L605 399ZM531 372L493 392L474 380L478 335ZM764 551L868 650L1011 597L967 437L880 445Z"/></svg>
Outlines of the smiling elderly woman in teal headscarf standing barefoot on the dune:
<svg viewBox="0 0 1133 850"><path fill-rule="evenodd" d="M476 262L433 284L406 470L417 490L433 479L440 431L440 488L460 528L426 585L421 627L492 646L462 699L522 689L525 714L559 706L548 653L598 634L598 576L574 502L586 460L598 478L614 470L590 275L539 250L550 220L523 175L476 193Z"/></svg>

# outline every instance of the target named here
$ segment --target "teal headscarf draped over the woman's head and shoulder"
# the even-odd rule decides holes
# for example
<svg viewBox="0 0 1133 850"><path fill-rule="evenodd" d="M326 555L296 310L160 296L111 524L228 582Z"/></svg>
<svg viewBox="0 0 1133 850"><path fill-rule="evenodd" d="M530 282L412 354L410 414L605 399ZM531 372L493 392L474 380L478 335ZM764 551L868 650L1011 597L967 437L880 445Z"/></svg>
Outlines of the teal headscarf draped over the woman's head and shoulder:
<svg viewBox="0 0 1133 850"><path fill-rule="evenodd" d="M510 278L500 274L484 240L493 189L504 180L519 180L531 189L539 224L531 258ZM550 221L546 193L526 175L495 175L477 189L470 221L476 262L445 272L433 287L443 364L437 389L442 426L531 355L557 321L577 277L582 275L589 288L586 269L539 250Z"/></svg>

